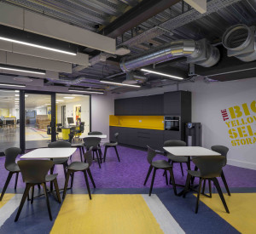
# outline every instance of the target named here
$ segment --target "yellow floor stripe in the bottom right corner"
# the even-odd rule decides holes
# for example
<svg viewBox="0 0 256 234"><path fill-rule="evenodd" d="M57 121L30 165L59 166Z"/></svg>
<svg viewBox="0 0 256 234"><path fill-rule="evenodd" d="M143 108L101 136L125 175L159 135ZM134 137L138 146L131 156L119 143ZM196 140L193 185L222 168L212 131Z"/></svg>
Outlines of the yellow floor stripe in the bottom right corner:
<svg viewBox="0 0 256 234"><path fill-rule="evenodd" d="M209 208L212 208L214 212L241 233L255 234L256 193L232 193L231 196L224 195L224 198L230 209L230 214L225 212L218 194L212 194L212 198L201 196L201 202L205 203Z"/></svg>

